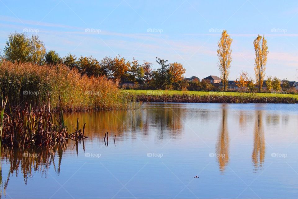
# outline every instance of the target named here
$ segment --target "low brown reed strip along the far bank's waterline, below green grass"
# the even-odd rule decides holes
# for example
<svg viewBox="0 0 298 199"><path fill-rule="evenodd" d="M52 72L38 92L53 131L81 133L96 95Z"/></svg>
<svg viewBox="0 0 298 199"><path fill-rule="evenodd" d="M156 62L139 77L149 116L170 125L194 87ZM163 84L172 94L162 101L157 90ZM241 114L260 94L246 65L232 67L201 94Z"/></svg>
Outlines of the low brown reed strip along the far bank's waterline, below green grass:
<svg viewBox="0 0 298 199"><path fill-rule="evenodd" d="M285 97L231 96L231 95L131 95L137 102L177 102L177 103L272 103L295 104L297 99Z"/></svg>

